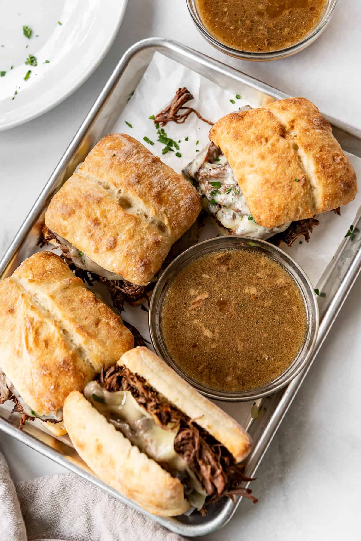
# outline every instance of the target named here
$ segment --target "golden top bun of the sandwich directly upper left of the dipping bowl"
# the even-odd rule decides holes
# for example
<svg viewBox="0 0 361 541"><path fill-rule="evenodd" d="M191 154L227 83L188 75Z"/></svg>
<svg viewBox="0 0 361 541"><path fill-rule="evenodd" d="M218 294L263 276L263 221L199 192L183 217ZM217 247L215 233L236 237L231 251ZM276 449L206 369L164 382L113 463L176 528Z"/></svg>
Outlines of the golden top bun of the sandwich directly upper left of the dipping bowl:
<svg viewBox="0 0 361 541"><path fill-rule="evenodd" d="M133 137L111 134L52 198L45 223L101 267L146 285L200 210L189 182Z"/></svg>

